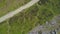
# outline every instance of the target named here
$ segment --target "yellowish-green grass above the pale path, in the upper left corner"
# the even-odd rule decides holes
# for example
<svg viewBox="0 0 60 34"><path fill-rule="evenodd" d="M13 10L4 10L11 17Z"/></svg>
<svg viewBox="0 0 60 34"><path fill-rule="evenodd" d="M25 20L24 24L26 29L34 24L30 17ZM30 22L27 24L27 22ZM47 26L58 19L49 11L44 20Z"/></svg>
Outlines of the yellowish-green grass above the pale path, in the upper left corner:
<svg viewBox="0 0 60 34"><path fill-rule="evenodd" d="M0 17L26 4L30 0L0 0Z"/></svg>

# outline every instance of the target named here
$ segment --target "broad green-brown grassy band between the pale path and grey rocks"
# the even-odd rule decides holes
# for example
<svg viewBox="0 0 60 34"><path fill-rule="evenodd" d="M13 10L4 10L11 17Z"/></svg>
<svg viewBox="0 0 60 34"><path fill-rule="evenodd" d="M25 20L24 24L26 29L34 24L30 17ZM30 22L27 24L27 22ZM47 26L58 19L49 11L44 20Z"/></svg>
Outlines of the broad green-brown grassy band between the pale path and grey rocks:
<svg viewBox="0 0 60 34"><path fill-rule="evenodd" d="M41 4L36 3L32 7L23 10L23 12L16 14L14 17L6 20L0 26L4 27L3 24L8 22L10 26L9 34L27 34L38 24L45 24L46 21L49 21L54 16L59 15L59 3L60 0L49 0L45 1L44 3L42 2ZM8 28L8 24L5 24L5 26ZM3 34L6 32L7 29L4 28L1 28L0 30L0 32L3 30L3 32L1 32Z"/></svg>

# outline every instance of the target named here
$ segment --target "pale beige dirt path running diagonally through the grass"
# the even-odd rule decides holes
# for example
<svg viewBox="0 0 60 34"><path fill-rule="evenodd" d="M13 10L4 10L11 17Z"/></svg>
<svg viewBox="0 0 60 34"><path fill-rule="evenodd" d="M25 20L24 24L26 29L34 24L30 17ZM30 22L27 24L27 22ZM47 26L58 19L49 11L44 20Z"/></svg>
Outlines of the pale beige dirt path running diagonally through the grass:
<svg viewBox="0 0 60 34"><path fill-rule="evenodd" d="M37 3L38 1L39 0L31 0L26 5L21 6L20 8L16 9L15 11L9 12L6 15L0 17L0 23L2 23L3 21L5 21L8 18L13 17L15 14L18 14L19 12L22 12L22 10L31 7L32 5L34 5L35 3Z"/></svg>

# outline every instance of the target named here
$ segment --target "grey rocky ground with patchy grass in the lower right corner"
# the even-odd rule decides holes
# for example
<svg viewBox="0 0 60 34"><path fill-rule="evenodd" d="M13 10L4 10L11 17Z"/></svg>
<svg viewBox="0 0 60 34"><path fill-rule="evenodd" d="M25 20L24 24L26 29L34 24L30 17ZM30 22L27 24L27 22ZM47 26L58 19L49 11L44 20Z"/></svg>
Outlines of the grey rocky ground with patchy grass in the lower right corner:
<svg viewBox="0 0 60 34"><path fill-rule="evenodd" d="M38 25L29 31L28 34L37 34L37 33L59 33L60 32L60 15L55 16L52 20L47 21L44 25ZM44 33L44 34L45 34Z"/></svg>

